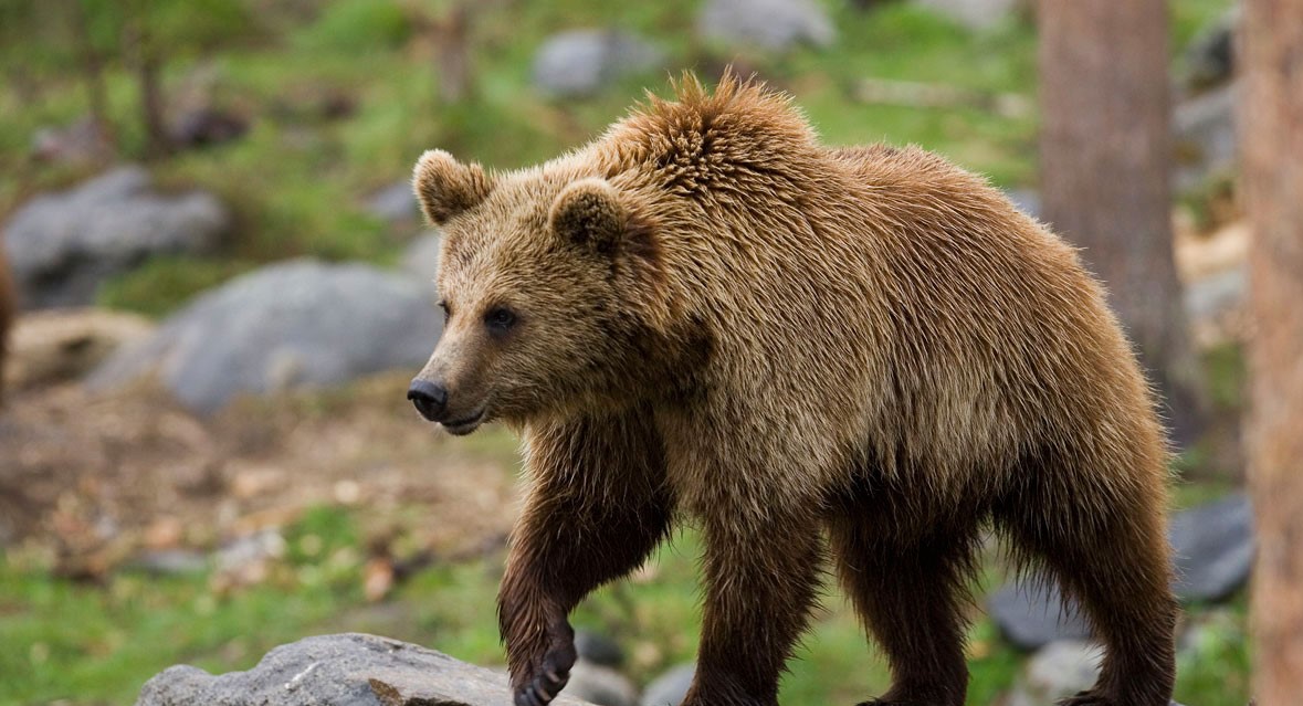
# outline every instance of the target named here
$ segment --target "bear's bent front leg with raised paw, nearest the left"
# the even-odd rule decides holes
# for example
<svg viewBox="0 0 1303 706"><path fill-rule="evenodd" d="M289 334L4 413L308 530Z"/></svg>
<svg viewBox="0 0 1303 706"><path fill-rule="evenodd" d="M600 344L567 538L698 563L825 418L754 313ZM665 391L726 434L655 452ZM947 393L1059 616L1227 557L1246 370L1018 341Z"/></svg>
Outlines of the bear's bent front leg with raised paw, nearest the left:
<svg viewBox="0 0 1303 706"><path fill-rule="evenodd" d="M529 430L534 483L498 597L517 706L556 697L575 664L571 610L637 568L665 537L672 499L663 459L650 417L638 412Z"/></svg>

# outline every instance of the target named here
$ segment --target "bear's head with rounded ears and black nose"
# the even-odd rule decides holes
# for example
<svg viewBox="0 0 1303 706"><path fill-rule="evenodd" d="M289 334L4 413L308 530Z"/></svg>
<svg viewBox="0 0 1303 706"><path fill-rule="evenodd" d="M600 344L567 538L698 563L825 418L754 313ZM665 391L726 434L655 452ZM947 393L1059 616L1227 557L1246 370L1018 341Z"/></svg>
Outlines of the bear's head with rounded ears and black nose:
<svg viewBox="0 0 1303 706"><path fill-rule="evenodd" d="M563 164L489 175L416 165L443 229L443 336L408 399L452 434L619 404L657 348L658 253L632 194Z"/></svg>

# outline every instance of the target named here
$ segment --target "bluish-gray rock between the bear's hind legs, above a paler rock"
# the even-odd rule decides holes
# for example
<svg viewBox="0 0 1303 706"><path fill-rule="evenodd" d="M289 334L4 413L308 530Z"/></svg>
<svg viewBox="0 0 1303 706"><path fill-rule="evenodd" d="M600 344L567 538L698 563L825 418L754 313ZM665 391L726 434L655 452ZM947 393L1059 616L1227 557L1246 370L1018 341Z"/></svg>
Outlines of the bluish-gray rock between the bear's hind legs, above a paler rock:
<svg viewBox="0 0 1303 706"><path fill-rule="evenodd" d="M990 597L988 610L1001 633L1024 650L1091 636L1085 619L1065 606L1053 582L1006 585Z"/></svg>

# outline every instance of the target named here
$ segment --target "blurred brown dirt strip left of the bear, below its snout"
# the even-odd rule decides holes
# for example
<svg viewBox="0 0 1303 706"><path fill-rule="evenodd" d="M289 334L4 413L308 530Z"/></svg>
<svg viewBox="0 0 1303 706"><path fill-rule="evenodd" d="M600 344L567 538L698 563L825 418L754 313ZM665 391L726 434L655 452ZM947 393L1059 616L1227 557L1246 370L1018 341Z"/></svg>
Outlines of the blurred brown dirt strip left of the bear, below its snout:
<svg viewBox="0 0 1303 706"><path fill-rule="evenodd" d="M18 389L0 409L0 546L95 578L150 551L210 551L306 508L358 508L373 551L500 546L515 516L513 438L423 423L408 375L240 400L195 417L160 391Z"/></svg>

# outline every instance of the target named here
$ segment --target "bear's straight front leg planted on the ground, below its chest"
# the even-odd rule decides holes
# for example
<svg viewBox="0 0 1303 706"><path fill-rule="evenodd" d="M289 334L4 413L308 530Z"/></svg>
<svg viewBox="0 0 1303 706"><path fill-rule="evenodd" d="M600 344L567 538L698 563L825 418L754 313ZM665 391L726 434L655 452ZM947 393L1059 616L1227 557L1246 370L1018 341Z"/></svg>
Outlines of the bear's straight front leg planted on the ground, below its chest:
<svg viewBox="0 0 1303 706"><path fill-rule="evenodd" d="M705 526L701 651L683 706L774 706L818 589L820 525L795 513L714 515Z"/></svg>

